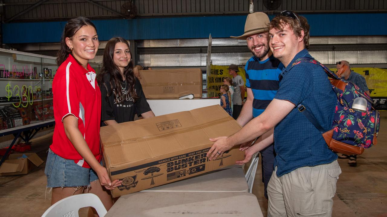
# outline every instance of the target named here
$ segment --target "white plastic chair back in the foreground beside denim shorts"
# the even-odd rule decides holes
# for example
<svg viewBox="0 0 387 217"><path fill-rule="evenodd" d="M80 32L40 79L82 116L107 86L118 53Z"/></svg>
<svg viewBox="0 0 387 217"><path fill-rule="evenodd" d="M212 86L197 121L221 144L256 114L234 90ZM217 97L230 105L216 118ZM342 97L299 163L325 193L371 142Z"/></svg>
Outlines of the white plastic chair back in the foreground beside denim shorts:
<svg viewBox="0 0 387 217"><path fill-rule="evenodd" d="M104 217L107 213L97 195L83 193L59 200L48 208L42 217L79 217L79 209L83 207L93 207L99 217Z"/></svg>

